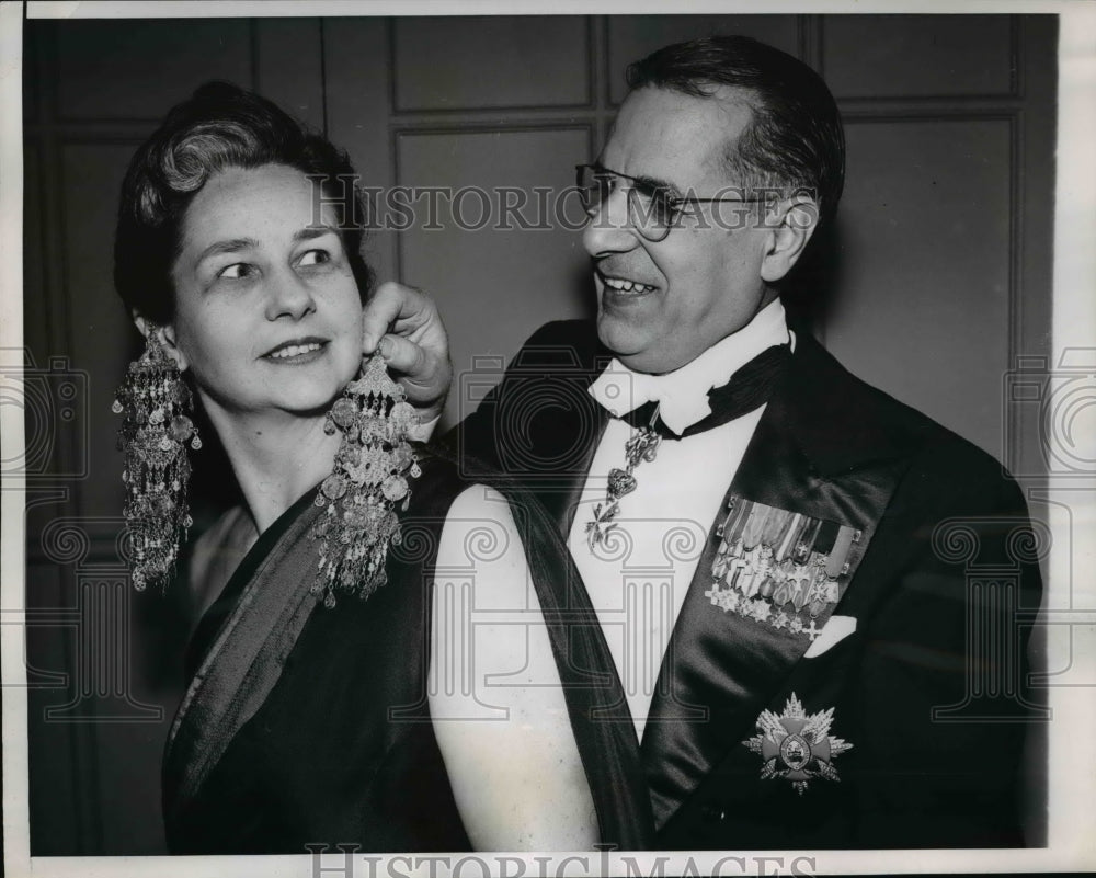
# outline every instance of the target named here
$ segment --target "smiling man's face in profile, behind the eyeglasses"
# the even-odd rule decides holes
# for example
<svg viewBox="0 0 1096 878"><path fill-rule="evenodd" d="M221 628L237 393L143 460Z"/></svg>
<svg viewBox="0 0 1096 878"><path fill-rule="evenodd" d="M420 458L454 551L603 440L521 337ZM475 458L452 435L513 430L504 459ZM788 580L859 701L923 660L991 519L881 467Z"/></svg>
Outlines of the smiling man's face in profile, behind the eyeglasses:
<svg viewBox="0 0 1096 878"><path fill-rule="evenodd" d="M692 98L658 88L633 91L616 118L601 163L660 181L677 195L715 197L741 185L723 164L728 144L752 111L741 90ZM757 205L699 205L665 240L644 239L628 223L627 195L615 191L583 232L594 260L597 334L637 372L672 372L737 332L776 294L760 275L766 231L730 223ZM723 221L716 221L717 213ZM629 288L630 287L630 288Z"/></svg>

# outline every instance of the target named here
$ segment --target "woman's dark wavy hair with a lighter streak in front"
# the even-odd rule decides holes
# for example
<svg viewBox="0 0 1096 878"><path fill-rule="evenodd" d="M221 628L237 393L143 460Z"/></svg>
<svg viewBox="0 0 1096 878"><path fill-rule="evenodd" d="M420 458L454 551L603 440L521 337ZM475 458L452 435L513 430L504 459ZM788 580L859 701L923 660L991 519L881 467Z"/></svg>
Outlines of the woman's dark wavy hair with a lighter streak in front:
<svg viewBox="0 0 1096 878"><path fill-rule="evenodd" d="M218 171L263 164L285 164L322 180L365 299L373 272L361 253L365 205L350 158L265 98L230 82L207 82L172 107L133 157L122 184L114 285L130 312L161 324L171 321L171 269L187 206Z"/></svg>

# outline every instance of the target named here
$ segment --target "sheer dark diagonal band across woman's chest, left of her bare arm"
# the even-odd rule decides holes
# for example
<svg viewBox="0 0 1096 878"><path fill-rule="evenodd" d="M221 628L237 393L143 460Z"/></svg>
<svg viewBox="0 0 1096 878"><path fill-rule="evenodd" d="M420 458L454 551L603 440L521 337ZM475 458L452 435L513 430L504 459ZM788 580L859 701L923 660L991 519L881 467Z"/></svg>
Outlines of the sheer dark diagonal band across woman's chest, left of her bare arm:
<svg viewBox="0 0 1096 878"><path fill-rule="evenodd" d="M321 510L311 503L294 509L298 514L265 552L175 716L164 756L164 775L172 778L165 796L169 818L193 798L232 738L262 706L318 605L309 591L318 547L308 532Z"/></svg>

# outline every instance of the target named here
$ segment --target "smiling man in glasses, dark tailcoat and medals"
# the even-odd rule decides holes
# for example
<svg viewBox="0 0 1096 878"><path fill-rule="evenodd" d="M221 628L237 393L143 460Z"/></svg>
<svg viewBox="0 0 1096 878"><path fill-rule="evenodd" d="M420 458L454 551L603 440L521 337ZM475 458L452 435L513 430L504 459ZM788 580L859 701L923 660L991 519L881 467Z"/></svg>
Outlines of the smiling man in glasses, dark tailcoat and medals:
<svg viewBox="0 0 1096 878"><path fill-rule="evenodd" d="M569 537L654 846L1021 845L1023 497L780 303L842 191L832 95L742 37L660 49L629 85L580 169L596 327L538 331L452 438ZM386 344L436 408L438 346Z"/></svg>

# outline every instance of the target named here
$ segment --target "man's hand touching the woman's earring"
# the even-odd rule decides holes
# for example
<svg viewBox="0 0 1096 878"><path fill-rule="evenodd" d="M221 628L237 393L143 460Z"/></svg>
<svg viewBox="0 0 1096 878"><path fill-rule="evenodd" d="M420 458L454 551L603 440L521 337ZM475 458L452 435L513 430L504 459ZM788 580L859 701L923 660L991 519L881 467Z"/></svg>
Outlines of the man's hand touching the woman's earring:
<svg viewBox="0 0 1096 878"><path fill-rule="evenodd" d="M362 353L368 356L378 346L418 410L419 422L438 418L453 384L453 365L434 301L393 281L378 286L362 318Z"/></svg>

